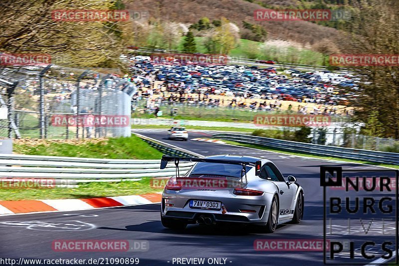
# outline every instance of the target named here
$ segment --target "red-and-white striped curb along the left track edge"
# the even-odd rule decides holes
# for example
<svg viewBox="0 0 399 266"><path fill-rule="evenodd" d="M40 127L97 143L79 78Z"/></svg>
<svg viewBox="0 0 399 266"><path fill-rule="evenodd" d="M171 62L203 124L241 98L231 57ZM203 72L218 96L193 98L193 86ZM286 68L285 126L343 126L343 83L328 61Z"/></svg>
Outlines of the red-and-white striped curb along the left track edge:
<svg viewBox="0 0 399 266"><path fill-rule="evenodd" d="M153 193L93 199L0 201L0 215L144 205L159 203L161 198L161 194Z"/></svg>

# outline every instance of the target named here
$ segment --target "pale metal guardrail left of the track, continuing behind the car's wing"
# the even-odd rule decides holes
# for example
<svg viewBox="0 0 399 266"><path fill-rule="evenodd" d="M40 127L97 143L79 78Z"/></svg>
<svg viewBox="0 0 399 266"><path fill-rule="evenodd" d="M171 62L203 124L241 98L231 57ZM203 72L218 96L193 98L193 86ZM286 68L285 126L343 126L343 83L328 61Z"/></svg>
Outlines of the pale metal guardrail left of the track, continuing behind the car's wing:
<svg viewBox="0 0 399 266"><path fill-rule="evenodd" d="M151 146L172 156L201 157L161 141L137 134ZM186 173L194 163L180 164ZM56 184L70 185L86 182L137 181L142 177L168 177L176 173L174 165L160 169L160 160L122 160L59 156L0 154L0 178L51 178Z"/></svg>

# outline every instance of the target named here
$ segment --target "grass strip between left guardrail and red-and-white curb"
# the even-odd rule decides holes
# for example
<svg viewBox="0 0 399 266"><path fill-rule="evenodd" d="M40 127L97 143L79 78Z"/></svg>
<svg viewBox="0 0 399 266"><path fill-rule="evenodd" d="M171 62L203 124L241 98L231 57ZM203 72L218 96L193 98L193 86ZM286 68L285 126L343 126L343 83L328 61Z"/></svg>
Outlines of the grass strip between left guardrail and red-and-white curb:
<svg viewBox="0 0 399 266"><path fill-rule="evenodd" d="M150 181L151 178L143 178L140 181L92 182L81 184L77 188L1 189L0 200L87 199L162 191L162 189L153 188Z"/></svg>

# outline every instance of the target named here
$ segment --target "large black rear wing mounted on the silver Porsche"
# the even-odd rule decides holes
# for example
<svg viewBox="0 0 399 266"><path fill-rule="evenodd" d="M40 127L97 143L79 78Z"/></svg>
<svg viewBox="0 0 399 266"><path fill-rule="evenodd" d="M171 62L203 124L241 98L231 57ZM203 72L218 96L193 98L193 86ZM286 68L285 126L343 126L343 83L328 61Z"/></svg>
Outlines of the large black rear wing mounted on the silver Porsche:
<svg viewBox="0 0 399 266"><path fill-rule="evenodd" d="M253 165L255 166L255 175L259 175L260 168L262 166L261 161L253 162L241 162L235 160L223 160L223 159L208 159L208 158L192 158L192 157L174 157L174 156L166 156L163 155L161 159L161 169L165 169L168 165L168 162L175 162L176 167L179 167L180 161L186 162L201 162L201 163L216 163L216 164L235 164L235 165L242 165L243 167L246 165Z"/></svg>

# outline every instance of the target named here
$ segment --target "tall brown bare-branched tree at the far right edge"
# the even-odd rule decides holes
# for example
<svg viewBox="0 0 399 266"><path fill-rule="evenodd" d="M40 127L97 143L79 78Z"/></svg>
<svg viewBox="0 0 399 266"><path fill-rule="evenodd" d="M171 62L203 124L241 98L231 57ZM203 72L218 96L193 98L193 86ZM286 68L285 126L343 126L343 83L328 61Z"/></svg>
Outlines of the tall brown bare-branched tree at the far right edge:
<svg viewBox="0 0 399 266"><path fill-rule="evenodd" d="M361 2L353 16L352 33L345 42L345 53L399 54L399 3L397 0ZM376 12L378 10L378 12ZM350 103L356 121L371 128L367 134L399 138L399 67L352 67L361 78L359 96ZM377 123L379 122L379 123ZM382 132L381 132L382 131Z"/></svg>

